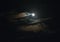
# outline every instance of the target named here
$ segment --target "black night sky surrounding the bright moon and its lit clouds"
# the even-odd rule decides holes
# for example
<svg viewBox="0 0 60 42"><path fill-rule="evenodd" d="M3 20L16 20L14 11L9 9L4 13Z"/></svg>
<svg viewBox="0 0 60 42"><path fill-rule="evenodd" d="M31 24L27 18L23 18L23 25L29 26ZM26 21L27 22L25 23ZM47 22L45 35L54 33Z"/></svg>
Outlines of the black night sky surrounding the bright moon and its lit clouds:
<svg viewBox="0 0 60 42"><path fill-rule="evenodd" d="M6 13L12 10L25 10L25 11L37 11L40 14L40 17L52 17L52 20L48 21L50 30L53 30L54 33L40 33L39 39L41 40L57 40L59 37L59 17L57 18L57 4L54 1L48 0L1 0L0 1L0 19L1 19L1 40L16 41L16 32L10 32L7 26ZM57 14L57 15L56 15ZM57 22L57 23L56 23ZM7 27L6 27L7 26ZM15 29L14 29L15 30ZM14 36L13 36L14 35ZM36 34L33 34L36 36ZM8 36L8 37L7 37ZM38 37L35 37L35 39ZM44 39L43 39L44 38ZM32 38L33 39L33 38Z"/></svg>

